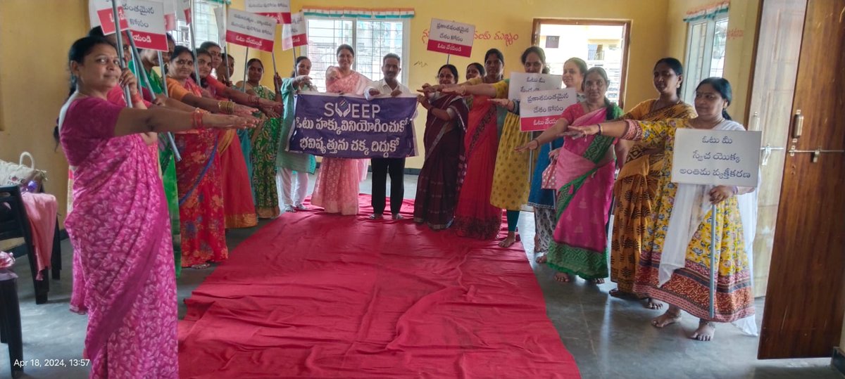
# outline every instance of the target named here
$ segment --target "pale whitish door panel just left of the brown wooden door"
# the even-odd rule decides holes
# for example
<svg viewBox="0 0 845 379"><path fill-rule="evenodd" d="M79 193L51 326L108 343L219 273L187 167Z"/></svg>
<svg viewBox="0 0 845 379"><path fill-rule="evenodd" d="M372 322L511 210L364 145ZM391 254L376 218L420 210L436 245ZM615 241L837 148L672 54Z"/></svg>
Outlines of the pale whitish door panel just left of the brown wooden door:
<svg viewBox="0 0 845 379"><path fill-rule="evenodd" d="M806 1L765 0L760 7L756 62L752 78L748 129L763 133L757 230L754 240L754 295L766 295L783 163L787 155L790 111L801 52ZM748 242L746 242L748 243Z"/></svg>

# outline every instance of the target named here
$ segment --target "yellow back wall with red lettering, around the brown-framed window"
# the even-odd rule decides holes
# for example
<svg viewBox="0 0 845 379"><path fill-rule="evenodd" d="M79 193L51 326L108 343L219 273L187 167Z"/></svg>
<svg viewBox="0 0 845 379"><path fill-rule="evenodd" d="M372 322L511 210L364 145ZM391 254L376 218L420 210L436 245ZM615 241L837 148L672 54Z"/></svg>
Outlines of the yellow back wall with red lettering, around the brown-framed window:
<svg viewBox="0 0 845 379"><path fill-rule="evenodd" d="M298 11L303 6L349 7L347 0L293 0L292 9ZM667 28L665 25L668 0L602 0L584 2L576 0L488 0L485 2L453 0L368 0L355 3L357 7L367 8L414 8L416 15L410 22L411 51L408 62L402 62L402 69L409 71L406 83L412 89L418 89L423 83L433 82L437 69L446 62L444 54L426 51L423 43L423 30L428 30L431 19L455 19L466 24L475 24L477 33L489 31L490 40L477 40L472 46L472 59L451 57L450 63L459 68L461 76L464 68L471 62L482 62L484 51L491 47L504 52L505 74L511 71L524 71L520 62L522 51L531 46L532 23L534 18L568 19L630 19L630 59L628 83L625 86L625 106L630 108L641 100L655 95L651 84L651 68L657 59L666 53ZM236 6L237 8L237 6ZM517 35L511 44L504 40L495 40L497 32ZM277 49L281 50L281 49ZM292 52L276 51L276 62L280 72L292 69ZM264 62L270 59L265 54ZM265 63L266 64L266 63ZM380 79L380 78L371 78ZM269 82L268 82L269 84ZM425 112L420 108L417 117L417 141L423 140ZM423 147L419 146L421 152ZM421 156L411 158L406 166L420 168Z"/></svg>

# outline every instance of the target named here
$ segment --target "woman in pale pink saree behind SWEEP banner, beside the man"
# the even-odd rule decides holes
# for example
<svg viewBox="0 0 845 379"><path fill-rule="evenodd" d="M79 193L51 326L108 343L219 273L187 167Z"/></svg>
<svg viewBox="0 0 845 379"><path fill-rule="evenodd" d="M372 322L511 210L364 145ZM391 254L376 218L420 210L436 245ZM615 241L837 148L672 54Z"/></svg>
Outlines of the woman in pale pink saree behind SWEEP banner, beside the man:
<svg viewBox="0 0 845 379"><path fill-rule="evenodd" d="M337 48L337 64L325 73L326 92L363 95L369 79L352 71L352 46ZM368 160L324 157L320 163L311 203L330 214L358 213L358 183L367 177Z"/></svg>

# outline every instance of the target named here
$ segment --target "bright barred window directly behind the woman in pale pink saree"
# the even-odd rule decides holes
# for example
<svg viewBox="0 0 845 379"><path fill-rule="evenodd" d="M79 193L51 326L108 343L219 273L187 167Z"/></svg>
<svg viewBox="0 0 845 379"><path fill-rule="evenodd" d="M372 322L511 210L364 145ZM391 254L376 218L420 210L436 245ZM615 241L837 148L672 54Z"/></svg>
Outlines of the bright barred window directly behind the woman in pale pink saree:
<svg viewBox="0 0 845 379"><path fill-rule="evenodd" d="M337 46L347 44L355 49L352 69L371 80L382 79L384 55L392 52L408 62L404 19L327 19L306 17L308 46L302 55L311 60L311 78L320 90L325 90L325 71L337 65ZM407 84L407 69L401 71L401 83Z"/></svg>

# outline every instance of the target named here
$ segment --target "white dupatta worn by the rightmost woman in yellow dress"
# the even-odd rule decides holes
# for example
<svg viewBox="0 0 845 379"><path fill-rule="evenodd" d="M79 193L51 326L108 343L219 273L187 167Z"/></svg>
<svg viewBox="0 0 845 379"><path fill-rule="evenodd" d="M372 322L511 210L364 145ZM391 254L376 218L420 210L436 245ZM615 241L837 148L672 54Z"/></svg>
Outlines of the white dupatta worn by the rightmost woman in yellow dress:
<svg viewBox="0 0 845 379"><path fill-rule="evenodd" d="M725 120L719 123L713 130L739 130L745 128L739 122ZM695 236L698 226L704 221L707 212L711 208L709 192L713 188L710 185L678 183L678 191L675 193L675 200L672 207L672 214L669 216L669 226L666 232L666 241L663 242L662 257L657 286L660 287L669 279L678 268L684 268L686 262L686 251L690 241ZM757 191L745 193L737 197L739 202L739 214L743 223L743 238L745 241L745 254L748 256L749 269L751 270L753 283L753 250L754 236L757 226ZM755 317L745 317L733 322L733 325L742 330L743 333L756 336L757 324Z"/></svg>

